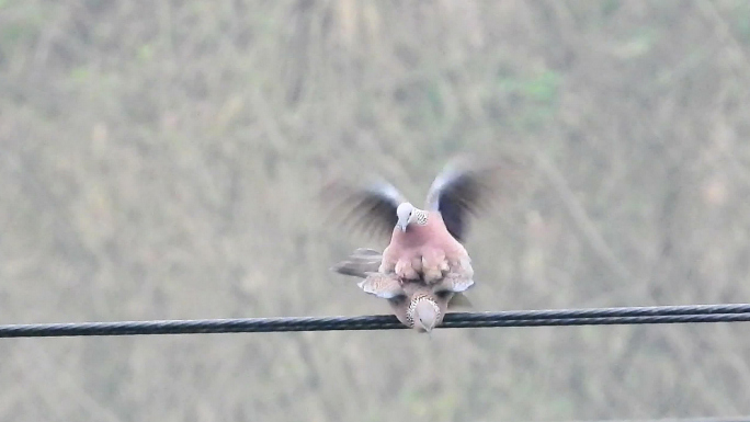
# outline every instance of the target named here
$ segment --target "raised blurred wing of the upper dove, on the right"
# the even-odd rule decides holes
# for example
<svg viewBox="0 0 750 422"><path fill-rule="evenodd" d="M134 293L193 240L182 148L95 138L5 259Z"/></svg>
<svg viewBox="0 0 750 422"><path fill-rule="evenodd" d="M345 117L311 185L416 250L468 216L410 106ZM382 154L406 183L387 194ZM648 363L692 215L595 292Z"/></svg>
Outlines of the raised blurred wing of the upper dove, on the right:
<svg viewBox="0 0 750 422"><path fill-rule="evenodd" d="M477 216L486 209L498 193L501 170L500 163L453 160L432 182L427 208L440 212L448 232L463 243L469 215Z"/></svg>

